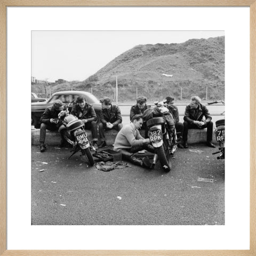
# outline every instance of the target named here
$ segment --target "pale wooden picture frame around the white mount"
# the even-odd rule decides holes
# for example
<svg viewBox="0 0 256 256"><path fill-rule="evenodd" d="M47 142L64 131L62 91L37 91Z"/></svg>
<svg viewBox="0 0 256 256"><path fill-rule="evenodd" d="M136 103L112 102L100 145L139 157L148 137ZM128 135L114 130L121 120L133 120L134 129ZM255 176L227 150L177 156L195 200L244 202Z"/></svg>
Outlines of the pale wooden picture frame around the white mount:
<svg viewBox="0 0 256 256"><path fill-rule="evenodd" d="M250 250L6 250L6 12L7 6L250 6ZM0 255L256 255L256 0L2 0L0 3Z"/></svg>

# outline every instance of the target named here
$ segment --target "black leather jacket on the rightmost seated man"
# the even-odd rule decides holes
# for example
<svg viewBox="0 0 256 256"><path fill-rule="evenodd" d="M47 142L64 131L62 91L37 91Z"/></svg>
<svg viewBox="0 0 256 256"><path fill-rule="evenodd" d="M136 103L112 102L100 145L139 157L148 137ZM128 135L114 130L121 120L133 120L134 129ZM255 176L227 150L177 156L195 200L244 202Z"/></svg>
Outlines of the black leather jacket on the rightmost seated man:
<svg viewBox="0 0 256 256"><path fill-rule="evenodd" d="M205 120L203 120L205 117ZM194 121L203 121L205 124L211 122L212 117L209 114L208 109L206 106L199 103L198 107L191 108L190 105L186 107L185 114L184 114L184 121L192 124Z"/></svg>

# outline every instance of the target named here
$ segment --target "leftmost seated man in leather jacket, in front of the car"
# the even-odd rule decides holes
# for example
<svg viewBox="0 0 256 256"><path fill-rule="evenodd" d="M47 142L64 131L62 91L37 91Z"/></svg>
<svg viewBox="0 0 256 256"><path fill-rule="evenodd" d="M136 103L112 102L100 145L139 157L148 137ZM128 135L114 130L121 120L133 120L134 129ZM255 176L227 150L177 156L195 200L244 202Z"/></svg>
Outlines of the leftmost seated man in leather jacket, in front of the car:
<svg viewBox="0 0 256 256"><path fill-rule="evenodd" d="M47 107L40 118L41 126L40 126L40 151L44 152L46 150L46 146L44 144L46 137L46 129L50 131L59 131L61 135L61 143L60 146L63 146L64 138L63 138L63 130L65 130L65 126L62 121L58 118L58 115L61 110L66 107L62 103L61 100L55 100L53 105Z"/></svg>

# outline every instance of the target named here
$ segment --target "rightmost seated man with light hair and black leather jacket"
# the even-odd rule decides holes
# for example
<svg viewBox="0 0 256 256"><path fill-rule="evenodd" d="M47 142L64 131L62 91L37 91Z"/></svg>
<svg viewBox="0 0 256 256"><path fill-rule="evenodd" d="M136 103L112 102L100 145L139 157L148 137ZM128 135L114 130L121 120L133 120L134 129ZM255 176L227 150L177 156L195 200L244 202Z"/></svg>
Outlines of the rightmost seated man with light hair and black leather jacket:
<svg viewBox="0 0 256 256"><path fill-rule="evenodd" d="M205 119L203 119L205 117ZM198 96L191 97L190 104L186 107L184 114L184 131L183 131L183 146L188 148L188 129L204 129L207 127L207 142L206 145L212 148L215 146L212 143L213 123L212 117L209 114L206 106L201 104L201 99Z"/></svg>

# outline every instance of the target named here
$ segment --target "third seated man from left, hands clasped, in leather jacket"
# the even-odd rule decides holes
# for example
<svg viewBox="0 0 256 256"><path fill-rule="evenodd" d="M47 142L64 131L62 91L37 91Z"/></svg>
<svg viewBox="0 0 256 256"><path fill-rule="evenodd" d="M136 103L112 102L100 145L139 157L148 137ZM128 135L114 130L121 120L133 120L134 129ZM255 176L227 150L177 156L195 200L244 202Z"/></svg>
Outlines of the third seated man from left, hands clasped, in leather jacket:
<svg viewBox="0 0 256 256"><path fill-rule="evenodd" d="M99 148L105 147L106 138L105 130L115 129L120 131L123 127L122 115L118 106L111 104L111 100L108 97L100 99L102 106L100 123L99 123L99 134L100 134L100 145Z"/></svg>

